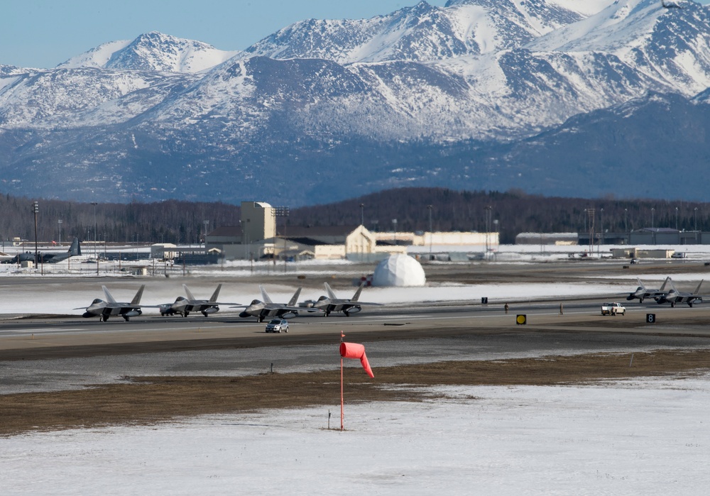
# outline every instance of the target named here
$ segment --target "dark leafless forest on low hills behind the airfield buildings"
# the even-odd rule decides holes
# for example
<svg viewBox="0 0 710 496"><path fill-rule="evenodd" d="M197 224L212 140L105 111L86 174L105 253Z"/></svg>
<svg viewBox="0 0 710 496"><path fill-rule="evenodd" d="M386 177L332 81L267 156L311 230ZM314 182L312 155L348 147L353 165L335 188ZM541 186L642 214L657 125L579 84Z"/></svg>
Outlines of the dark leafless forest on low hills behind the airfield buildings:
<svg viewBox="0 0 710 496"><path fill-rule="evenodd" d="M219 202L169 200L94 205L5 195L0 196L3 241L16 236L34 239L33 201L39 203L40 241L58 241L60 226L63 242L75 236L82 241L92 240L94 215L97 240L109 243L198 243L204 235L205 221L208 232L239 225L239 206ZM287 218L278 219L278 226L281 231L284 222L287 226L356 225L362 219L366 228L373 231L428 231L430 221L433 231L486 231L488 219L491 229L501 233L501 243L513 243L515 236L523 232L589 231L587 209L594 209L596 232L601 227L609 232L643 227L710 230L707 203L555 198L518 191L459 192L442 188L389 189L344 202L290 209Z"/></svg>

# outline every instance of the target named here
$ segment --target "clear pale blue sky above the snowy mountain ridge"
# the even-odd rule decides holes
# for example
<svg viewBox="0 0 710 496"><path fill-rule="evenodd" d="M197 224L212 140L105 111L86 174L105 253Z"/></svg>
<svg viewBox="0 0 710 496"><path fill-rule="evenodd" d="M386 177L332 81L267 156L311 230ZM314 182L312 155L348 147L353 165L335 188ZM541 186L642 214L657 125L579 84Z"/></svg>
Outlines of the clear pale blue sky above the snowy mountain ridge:
<svg viewBox="0 0 710 496"><path fill-rule="evenodd" d="M446 3L428 1L438 6ZM54 67L107 41L131 40L148 31L204 41L220 50L241 50L295 21L368 18L416 3L417 0L7 1L0 9L0 64Z"/></svg>

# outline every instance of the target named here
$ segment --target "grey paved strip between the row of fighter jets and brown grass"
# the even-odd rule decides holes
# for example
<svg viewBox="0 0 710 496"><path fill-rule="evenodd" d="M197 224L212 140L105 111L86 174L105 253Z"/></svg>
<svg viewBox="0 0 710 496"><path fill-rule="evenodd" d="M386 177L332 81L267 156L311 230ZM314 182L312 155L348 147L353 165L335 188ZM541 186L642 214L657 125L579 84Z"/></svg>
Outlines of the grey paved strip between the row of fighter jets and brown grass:
<svg viewBox="0 0 710 496"><path fill-rule="evenodd" d="M339 316L299 316L288 334L236 314L0 322L0 394L68 390L127 376L251 375L339 366L341 332L364 343L373 367L442 360L494 360L581 353L710 347L710 309L630 304L601 316L598 302L511 307L406 307ZM646 315L655 313L654 324ZM527 324L516 324L525 314ZM355 364L359 365L359 364ZM355 366L349 365L349 366Z"/></svg>

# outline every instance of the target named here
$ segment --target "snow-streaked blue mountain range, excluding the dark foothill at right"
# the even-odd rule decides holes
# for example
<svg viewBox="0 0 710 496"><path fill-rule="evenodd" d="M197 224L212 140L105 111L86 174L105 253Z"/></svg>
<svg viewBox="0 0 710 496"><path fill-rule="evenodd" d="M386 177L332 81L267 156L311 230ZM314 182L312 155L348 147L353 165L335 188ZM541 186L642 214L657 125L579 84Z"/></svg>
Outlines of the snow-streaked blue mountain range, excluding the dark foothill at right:
<svg viewBox="0 0 710 496"><path fill-rule="evenodd" d="M398 184L526 189L525 177L567 192L549 177L579 146L556 144L535 173L515 150L649 94L706 109L691 99L710 87L710 10L677 4L421 1L295 23L244 52L147 33L53 70L0 66L0 189L239 201L263 187L303 204Z"/></svg>

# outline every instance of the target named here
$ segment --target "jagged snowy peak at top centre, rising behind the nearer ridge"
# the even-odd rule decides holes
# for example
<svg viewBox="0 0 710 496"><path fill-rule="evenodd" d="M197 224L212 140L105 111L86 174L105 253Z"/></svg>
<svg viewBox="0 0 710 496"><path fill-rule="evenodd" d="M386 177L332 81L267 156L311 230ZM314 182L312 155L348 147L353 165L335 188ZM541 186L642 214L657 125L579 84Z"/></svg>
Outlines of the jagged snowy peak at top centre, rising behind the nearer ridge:
<svg viewBox="0 0 710 496"><path fill-rule="evenodd" d="M295 23L247 48L245 55L322 58L341 64L425 62L515 48L581 18L580 13L543 2L458 0L440 8L420 1L371 19Z"/></svg>

